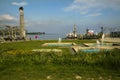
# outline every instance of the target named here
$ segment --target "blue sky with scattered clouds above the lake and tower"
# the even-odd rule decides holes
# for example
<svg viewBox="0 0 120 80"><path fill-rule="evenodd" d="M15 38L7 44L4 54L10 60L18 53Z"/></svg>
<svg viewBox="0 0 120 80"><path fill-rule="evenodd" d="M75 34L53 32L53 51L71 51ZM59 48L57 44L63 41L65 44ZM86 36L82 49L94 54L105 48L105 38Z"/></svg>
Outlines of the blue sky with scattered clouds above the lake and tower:
<svg viewBox="0 0 120 80"><path fill-rule="evenodd" d="M24 7L25 28L46 33L79 33L100 27L120 28L120 0L0 0L0 26L19 26Z"/></svg>

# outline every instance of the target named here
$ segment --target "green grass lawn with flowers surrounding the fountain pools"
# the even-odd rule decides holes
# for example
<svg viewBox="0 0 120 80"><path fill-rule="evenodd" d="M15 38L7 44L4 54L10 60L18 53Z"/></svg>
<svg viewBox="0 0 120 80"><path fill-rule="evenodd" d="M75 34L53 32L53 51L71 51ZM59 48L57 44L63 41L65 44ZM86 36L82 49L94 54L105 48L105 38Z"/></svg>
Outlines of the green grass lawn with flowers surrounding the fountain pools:
<svg viewBox="0 0 120 80"><path fill-rule="evenodd" d="M0 43L0 80L120 80L119 49L73 55L69 47L42 46L46 42L57 40ZM63 42L80 44L95 41ZM31 51L54 48L63 50L62 55Z"/></svg>

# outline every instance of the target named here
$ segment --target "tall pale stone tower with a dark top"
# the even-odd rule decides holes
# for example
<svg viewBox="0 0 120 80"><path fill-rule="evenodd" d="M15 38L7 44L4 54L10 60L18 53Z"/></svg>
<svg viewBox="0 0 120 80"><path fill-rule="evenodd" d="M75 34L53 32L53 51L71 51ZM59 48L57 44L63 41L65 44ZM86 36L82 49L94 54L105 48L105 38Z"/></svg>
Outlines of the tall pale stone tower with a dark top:
<svg viewBox="0 0 120 80"><path fill-rule="evenodd" d="M20 11L20 38L25 39L25 24L24 24L24 9L23 7L19 8Z"/></svg>

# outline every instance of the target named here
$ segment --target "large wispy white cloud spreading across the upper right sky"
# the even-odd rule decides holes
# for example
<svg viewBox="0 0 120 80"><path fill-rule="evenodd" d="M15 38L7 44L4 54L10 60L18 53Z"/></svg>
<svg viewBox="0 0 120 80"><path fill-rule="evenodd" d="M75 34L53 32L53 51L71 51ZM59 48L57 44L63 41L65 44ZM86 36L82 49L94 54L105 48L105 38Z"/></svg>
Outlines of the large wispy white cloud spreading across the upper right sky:
<svg viewBox="0 0 120 80"><path fill-rule="evenodd" d="M120 0L74 0L64 8L64 11L75 11L87 15L101 13L105 9L120 10Z"/></svg>

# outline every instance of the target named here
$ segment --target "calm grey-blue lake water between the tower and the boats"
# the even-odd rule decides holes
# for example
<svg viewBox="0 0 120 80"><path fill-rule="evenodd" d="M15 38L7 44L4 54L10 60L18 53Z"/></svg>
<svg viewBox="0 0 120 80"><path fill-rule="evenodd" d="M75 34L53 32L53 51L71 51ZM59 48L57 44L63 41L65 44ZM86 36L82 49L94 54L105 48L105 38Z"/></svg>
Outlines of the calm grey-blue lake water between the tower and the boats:
<svg viewBox="0 0 120 80"><path fill-rule="evenodd" d="M32 40L58 40L59 38L65 38L65 34L42 34L42 35L27 35ZM37 37L37 38L35 38Z"/></svg>

